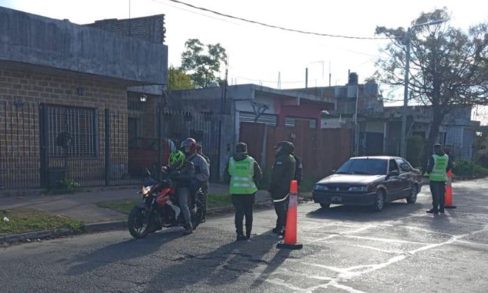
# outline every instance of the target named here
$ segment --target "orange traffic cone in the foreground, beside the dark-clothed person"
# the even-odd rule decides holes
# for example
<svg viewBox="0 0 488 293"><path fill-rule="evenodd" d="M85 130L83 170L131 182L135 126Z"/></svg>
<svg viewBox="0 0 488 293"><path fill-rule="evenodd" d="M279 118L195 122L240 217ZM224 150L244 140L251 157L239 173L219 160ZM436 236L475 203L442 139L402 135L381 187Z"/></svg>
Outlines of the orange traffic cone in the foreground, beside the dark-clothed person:
<svg viewBox="0 0 488 293"><path fill-rule="evenodd" d="M298 206L298 183L292 180L290 183L290 201L288 203L287 225L284 229L284 241L278 243L277 248L302 249L302 244L296 243L296 222Z"/></svg>

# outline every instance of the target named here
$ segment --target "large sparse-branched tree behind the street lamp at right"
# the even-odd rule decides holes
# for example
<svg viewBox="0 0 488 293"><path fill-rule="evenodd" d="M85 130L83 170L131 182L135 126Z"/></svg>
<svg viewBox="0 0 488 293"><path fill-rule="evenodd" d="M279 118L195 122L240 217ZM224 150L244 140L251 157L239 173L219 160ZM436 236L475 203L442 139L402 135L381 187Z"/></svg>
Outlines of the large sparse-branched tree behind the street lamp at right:
<svg viewBox="0 0 488 293"><path fill-rule="evenodd" d="M412 25L447 20L446 8L421 13ZM391 38L376 61L376 78L395 91L404 85L406 47L404 28L376 27L376 33ZM422 160L432 152L439 126L453 105L488 105L487 46L488 24L478 24L468 32L450 27L448 22L416 27L411 36L409 99L432 107L432 124Z"/></svg>

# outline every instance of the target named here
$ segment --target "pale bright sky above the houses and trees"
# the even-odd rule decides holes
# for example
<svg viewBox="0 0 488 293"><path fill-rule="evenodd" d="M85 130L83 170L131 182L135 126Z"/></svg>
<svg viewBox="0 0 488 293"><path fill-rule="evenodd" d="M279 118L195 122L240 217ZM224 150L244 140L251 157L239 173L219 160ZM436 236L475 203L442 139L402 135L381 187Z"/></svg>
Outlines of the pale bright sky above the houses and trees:
<svg viewBox="0 0 488 293"><path fill-rule="evenodd" d="M447 7L451 25L468 29L488 22L488 1L480 0L181 0L195 6L280 27L344 36L374 37L376 26L407 27L420 13ZM229 20L168 0L0 0L0 6L86 24L165 14L169 64L180 65L185 40L220 43L229 54L229 82L281 88L346 84L348 70L360 82L375 71L379 49L388 40L349 40L311 36ZM330 65L330 66L329 66ZM330 70L330 71L329 71ZM224 75L222 70L221 77ZM402 98L399 93L399 98ZM487 115L488 110L479 112Z"/></svg>

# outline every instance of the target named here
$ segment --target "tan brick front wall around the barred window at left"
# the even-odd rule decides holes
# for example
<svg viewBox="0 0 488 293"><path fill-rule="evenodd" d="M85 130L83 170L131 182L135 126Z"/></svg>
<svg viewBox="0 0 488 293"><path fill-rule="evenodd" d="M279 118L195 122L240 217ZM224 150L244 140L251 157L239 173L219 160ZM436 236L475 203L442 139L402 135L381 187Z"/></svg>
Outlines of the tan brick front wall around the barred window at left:
<svg viewBox="0 0 488 293"><path fill-rule="evenodd" d="M103 180L105 108L111 112L112 165L126 168L127 85L98 79L95 76L73 77L67 73L30 73L0 65L0 184L7 188L40 185L40 175L36 172L40 169L40 105L97 110L98 129L95 131L98 131L100 151L93 158L68 160L68 174L73 179ZM63 159L53 158L49 165L63 166L65 163Z"/></svg>

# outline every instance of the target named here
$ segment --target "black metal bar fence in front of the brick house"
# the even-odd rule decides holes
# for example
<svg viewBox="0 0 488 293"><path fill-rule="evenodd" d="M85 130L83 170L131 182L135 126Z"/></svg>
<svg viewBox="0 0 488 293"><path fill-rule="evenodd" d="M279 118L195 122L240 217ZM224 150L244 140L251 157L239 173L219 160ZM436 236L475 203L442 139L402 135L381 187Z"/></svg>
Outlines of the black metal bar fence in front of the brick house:
<svg viewBox="0 0 488 293"><path fill-rule="evenodd" d="M79 186L139 184L145 167L158 168L158 153L167 163L169 139L179 147L187 137L203 145L218 181L220 128L217 114L164 112L158 152L155 137L128 140L127 112L2 101L0 187L47 188L65 178Z"/></svg>

